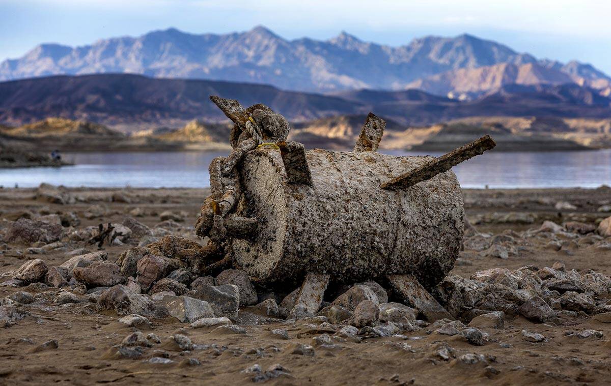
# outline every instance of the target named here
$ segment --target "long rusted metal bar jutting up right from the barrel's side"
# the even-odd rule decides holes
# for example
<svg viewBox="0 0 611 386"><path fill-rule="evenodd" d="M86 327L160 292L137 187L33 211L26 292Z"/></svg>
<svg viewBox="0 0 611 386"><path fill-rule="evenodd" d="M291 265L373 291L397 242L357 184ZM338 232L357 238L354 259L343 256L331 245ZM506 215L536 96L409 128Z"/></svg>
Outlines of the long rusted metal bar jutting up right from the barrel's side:
<svg viewBox="0 0 611 386"><path fill-rule="evenodd" d="M490 150L496 146L496 142L491 136L483 136L469 144L456 148L450 153L444 154L439 158L433 159L426 164L410 170L407 173L395 177L380 185L382 189L407 189L415 184L430 180L439 173L447 172L453 166L458 165L467 159L482 154L486 150Z"/></svg>

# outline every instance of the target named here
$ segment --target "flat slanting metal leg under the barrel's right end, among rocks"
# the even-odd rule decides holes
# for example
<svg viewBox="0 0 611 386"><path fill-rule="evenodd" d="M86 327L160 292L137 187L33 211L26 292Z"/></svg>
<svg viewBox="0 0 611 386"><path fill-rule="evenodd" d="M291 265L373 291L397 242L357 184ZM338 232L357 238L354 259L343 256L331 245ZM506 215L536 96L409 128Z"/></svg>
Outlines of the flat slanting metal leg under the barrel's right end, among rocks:
<svg viewBox="0 0 611 386"><path fill-rule="evenodd" d="M453 319L430 293L411 275L389 275L390 285L397 292L397 297L410 307L414 307L430 321Z"/></svg>

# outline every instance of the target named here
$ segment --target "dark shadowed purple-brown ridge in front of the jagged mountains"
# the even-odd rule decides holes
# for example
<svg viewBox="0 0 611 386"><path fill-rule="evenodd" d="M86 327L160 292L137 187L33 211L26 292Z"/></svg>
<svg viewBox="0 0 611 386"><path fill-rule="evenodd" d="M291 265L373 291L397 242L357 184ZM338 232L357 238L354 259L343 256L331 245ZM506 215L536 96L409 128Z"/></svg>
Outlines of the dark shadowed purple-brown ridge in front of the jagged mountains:
<svg viewBox="0 0 611 386"><path fill-rule="evenodd" d="M193 119L224 122L208 99L219 95L243 106L263 103L292 122L374 112L400 125L430 125L475 116L611 117L611 98L577 84L510 84L475 100L421 90L346 90L334 95L273 86L141 75L48 76L0 82L0 124L18 126L47 117L87 120L133 132L178 127Z"/></svg>

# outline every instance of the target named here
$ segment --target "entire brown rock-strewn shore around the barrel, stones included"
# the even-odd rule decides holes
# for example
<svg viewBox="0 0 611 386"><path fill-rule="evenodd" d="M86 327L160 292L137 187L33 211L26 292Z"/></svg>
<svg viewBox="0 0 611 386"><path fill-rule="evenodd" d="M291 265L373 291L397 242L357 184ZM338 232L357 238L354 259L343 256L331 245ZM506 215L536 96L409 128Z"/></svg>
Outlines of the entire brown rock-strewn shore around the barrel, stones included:
<svg viewBox="0 0 611 386"><path fill-rule="evenodd" d="M609 188L464 191L473 228L432 291L437 321L382 280L330 285L320 315L295 321L282 318L295 288L181 271L207 194L0 190L0 384L609 381ZM86 240L108 222L118 233L98 252ZM120 258L139 245L153 257Z"/></svg>

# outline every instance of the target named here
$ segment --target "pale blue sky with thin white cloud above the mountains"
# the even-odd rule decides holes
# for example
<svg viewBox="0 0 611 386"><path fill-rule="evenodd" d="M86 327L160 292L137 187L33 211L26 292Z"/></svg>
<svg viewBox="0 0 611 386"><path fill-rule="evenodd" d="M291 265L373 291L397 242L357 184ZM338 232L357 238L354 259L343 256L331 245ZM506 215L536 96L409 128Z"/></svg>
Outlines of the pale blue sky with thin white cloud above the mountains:
<svg viewBox="0 0 611 386"><path fill-rule="evenodd" d="M393 46L468 33L611 75L610 16L609 0L0 0L0 60L40 43L76 46L169 27L222 34L263 25L288 39L324 40L346 31Z"/></svg>

